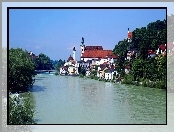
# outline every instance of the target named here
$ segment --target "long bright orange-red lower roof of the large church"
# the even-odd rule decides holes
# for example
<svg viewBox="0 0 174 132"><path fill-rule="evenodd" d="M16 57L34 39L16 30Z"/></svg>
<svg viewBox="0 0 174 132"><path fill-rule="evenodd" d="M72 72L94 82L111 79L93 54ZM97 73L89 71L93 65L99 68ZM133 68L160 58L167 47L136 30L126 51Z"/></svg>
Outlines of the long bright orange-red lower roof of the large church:
<svg viewBox="0 0 174 132"><path fill-rule="evenodd" d="M118 58L117 55L114 55L112 50L86 50L81 58L106 58L112 57L114 59Z"/></svg>

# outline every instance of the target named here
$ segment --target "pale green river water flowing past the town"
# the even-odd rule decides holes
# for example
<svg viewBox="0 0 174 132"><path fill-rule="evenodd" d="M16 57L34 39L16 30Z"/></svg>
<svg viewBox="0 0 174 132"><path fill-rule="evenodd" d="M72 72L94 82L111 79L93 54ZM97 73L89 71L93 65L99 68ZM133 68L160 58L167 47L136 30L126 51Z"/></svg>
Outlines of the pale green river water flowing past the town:
<svg viewBox="0 0 174 132"><path fill-rule="evenodd" d="M38 124L166 124L166 91L38 74L31 90Z"/></svg>

